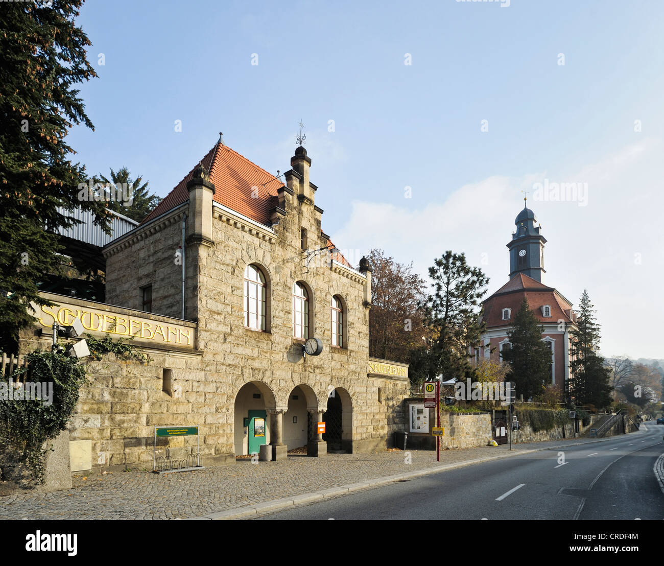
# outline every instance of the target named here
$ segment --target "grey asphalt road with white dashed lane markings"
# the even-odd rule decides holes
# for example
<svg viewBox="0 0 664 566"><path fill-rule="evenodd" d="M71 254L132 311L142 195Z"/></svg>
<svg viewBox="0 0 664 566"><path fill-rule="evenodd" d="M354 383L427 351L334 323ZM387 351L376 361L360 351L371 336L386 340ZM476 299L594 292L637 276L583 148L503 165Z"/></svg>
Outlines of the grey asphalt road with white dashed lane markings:
<svg viewBox="0 0 664 566"><path fill-rule="evenodd" d="M271 519L664 519L664 426L297 506ZM664 456L663 456L664 458ZM661 478L664 480L664 478Z"/></svg>

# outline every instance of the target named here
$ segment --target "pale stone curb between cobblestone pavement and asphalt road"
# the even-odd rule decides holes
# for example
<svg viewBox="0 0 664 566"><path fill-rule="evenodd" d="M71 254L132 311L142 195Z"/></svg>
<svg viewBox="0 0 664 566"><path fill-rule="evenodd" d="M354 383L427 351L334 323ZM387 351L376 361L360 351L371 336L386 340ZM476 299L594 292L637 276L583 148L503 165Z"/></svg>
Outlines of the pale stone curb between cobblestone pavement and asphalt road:
<svg viewBox="0 0 664 566"><path fill-rule="evenodd" d="M248 519L256 517L266 511L277 511L303 503L311 503L315 501L329 499L335 496L348 495L360 490L366 490L378 486L385 486L387 484L398 482L400 480L410 480L411 478L419 478L421 476L428 476L430 474L438 474L439 472L446 472L447 470L456 470L457 468L463 468L465 466L473 466L473 464L482 464L483 462L490 462L491 460L510 458L511 456L517 456L517 454L518 455L531 454L532 452L542 452L543 450L555 450L556 448L564 448L566 446L583 446L584 444L595 444L596 442L606 442L606 440L612 440L612 438L614 437L611 436L609 438L598 438L597 440L590 440L588 442L574 442L574 444L570 443L570 444L560 444L558 446L547 446L546 448L531 448L530 450L519 450L519 452L514 452L513 454L509 453L498 454L497 456L487 456L485 458L477 458L475 460L465 460L464 462L456 462L455 464L446 464L444 466L436 466L435 468L426 468L425 470L416 470L415 472L408 472L406 474L396 474L394 476L374 478L373 480L367 480L365 482L357 482L355 484L347 484L339 488L329 488L327 490L321 490L319 492L311 492L308 494L276 499L264 503L259 503L256 505L239 507L228 511L222 511L219 513L210 513L208 515L203 515L200 517L191 517L183 520L227 521L230 519Z"/></svg>

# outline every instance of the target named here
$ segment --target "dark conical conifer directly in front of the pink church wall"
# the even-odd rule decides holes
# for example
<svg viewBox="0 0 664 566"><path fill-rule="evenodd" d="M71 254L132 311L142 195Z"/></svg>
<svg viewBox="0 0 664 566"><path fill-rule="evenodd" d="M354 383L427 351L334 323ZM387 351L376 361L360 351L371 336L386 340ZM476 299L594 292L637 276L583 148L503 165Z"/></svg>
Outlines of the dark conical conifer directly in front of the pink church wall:
<svg viewBox="0 0 664 566"><path fill-rule="evenodd" d="M551 382L551 349L542 341L544 327L533 314L526 299L507 331L510 348L503 349L503 361L510 365L505 381L514 381L517 395L531 399L544 392Z"/></svg>

